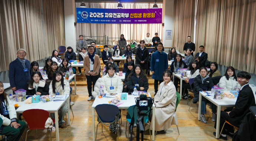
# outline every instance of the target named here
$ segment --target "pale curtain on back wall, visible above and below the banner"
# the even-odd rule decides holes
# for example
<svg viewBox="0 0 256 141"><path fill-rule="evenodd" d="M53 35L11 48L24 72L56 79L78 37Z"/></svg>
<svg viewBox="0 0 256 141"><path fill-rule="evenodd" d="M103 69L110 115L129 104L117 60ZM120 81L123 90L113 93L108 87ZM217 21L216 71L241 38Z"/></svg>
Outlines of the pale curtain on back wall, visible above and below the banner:
<svg viewBox="0 0 256 141"><path fill-rule="evenodd" d="M79 7L81 3L76 3ZM85 3L88 8L106 8L116 9L117 3ZM150 3L122 3L124 9L148 9L154 4ZM162 8L163 4L157 4ZM76 39L79 40L79 35L85 36L108 36L109 44L116 44L121 34L124 34L127 43L130 44L133 40L139 42L144 40L147 33L150 37L154 37L155 33L162 38L162 24L91 24L77 23L76 24ZM89 37L86 37L89 38ZM93 37L98 43L105 43L104 37Z"/></svg>

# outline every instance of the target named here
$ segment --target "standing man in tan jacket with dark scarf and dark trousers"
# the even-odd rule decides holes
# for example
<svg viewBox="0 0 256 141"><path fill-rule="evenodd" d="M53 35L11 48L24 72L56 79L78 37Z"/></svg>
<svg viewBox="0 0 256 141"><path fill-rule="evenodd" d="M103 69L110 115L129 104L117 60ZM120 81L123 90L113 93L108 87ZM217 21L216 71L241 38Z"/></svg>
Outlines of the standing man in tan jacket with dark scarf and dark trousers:
<svg viewBox="0 0 256 141"><path fill-rule="evenodd" d="M94 91L94 85L98 80L99 68L101 67L100 59L95 54L93 46L88 46L88 55L83 60L83 67L85 68L85 75L87 81L87 89L89 93L88 101L92 100L92 90ZM93 85L93 87L92 87Z"/></svg>

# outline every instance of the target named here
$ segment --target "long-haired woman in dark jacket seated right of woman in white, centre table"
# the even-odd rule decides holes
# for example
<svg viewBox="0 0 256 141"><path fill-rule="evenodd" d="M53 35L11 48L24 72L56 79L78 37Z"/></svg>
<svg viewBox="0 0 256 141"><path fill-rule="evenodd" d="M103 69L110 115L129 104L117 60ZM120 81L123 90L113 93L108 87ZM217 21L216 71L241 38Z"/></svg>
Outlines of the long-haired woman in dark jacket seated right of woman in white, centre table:
<svg viewBox="0 0 256 141"><path fill-rule="evenodd" d="M133 92L134 87L137 91L148 91L148 78L139 64L135 64L132 72L128 75L127 91Z"/></svg>

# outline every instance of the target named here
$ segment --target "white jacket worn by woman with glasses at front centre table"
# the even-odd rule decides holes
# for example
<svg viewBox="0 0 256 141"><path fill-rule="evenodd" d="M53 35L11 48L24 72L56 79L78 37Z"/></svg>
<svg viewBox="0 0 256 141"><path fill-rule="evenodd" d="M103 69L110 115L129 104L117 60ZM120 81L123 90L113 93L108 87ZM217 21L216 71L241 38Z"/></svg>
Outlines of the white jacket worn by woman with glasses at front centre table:
<svg viewBox="0 0 256 141"><path fill-rule="evenodd" d="M112 87L114 87L114 90L110 90L111 78L108 74L101 78L101 85L104 85L104 93L122 93L123 91L122 80L116 74L112 77Z"/></svg>

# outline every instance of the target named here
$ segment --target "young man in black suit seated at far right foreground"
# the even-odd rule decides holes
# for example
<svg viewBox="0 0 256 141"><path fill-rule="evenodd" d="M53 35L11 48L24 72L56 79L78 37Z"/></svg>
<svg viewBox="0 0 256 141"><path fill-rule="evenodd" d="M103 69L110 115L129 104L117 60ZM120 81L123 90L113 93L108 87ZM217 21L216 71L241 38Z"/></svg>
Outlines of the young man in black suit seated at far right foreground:
<svg viewBox="0 0 256 141"><path fill-rule="evenodd" d="M241 85L240 93L237 97L236 104L231 111L226 109L220 112L220 131L223 127L225 120L228 121L230 124L239 127L243 120L243 117L250 112L249 108L251 106L255 106L253 91L248 84L250 78L251 75L246 71L241 71L237 74L237 82ZM216 123L217 122L215 122L214 128L216 128ZM227 140L226 135L233 137L233 134L233 127L229 124L225 124L220 138L222 140ZM213 132L213 135L216 136L216 132Z"/></svg>

